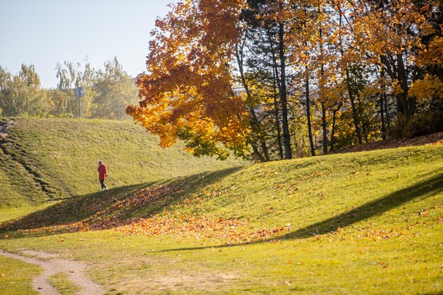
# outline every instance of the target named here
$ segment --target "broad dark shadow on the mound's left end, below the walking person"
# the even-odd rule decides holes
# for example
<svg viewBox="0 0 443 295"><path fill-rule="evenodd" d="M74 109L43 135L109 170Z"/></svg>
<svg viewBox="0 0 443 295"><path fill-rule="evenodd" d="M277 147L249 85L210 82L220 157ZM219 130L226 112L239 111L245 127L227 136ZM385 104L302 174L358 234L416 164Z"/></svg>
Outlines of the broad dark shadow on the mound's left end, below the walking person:
<svg viewBox="0 0 443 295"><path fill-rule="evenodd" d="M159 213L165 207L180 202L184 196L189 198L192 192L197 192L239 169L241 167L227 168L212 173L200 173L157 183L128 185L72 197L20 219L0 224L0 233L45 227L48 228L47 232L31 231L25 235L47 236L81 231L81 227L69 226L79 222L86 223L91 229L112 229L130 224L134 219L148 218ZM69 228L64 228L67 225ZM14 236L19 234L20 232L16 232Z"/></svg>

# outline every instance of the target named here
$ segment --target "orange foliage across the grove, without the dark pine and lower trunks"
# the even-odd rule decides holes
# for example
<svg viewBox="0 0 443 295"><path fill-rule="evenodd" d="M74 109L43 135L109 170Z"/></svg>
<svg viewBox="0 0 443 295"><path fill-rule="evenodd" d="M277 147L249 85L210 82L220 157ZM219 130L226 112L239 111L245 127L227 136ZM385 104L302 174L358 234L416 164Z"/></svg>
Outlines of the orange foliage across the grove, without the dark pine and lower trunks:
<svg viewBox="0 0 443 295"><path fill-rule="evenodd" d="M263 3L272 9L259 13L258 21L284 24L284 55L292 75L288 87L297 89L309 81L312 88L319 89L314 96L318 96L323 108L341 108L342 104L343 108L350 108L346 95L349 98L352 92L350 80L357 74L350 71L356 68L367 73L361 80L370 81L355 90L355 96L362 94L362 100L367 100L391 93L401 106L398 110L408 117L416 112L416 99L441 96L439 74L425 76L430 67L437 69L443 64L443 27L435 21L441 10L439 1ZM248 24L240 16L242 8L248 5L246 0L184 0L172 5L171 12L156 21L146 72L137 77L141 101L128 106L127 113L147 131L159 135L161 146L171 146L183 139L188 151L196 156L226 158L230 151L245 156L248 144L256 137L268 135L260 134L261 129L254 122L257 118L251 115L252 110L257 112L256 117L265 117L260 111L266 98L251 102L248 100L258 98L246 98L245 93L236 91L241 80L234 67L236 49L245 46L246 41L263 42L246 40ZM263 42L266 46L269 45ZM248 58L253 57L244 57L245 68ZM272 62L271 57L263 61ZM247 75L248 69L244 70ZM372 70L378 72L374 74ZM410 74L413 71L417 73ZM254 93L266 87L251 84ZM268 99L274 97L266 95ZM299 105L289 107L297 110ZM366 108L359 115L364 115L368 122L375 117L372 108L376 106L357 107ZM300 114L291 115L294 118ZM346 116L340 119L349 120ZM265 119L262 123L273 124ZM372 125L376 128L376 122Z"/></svg>

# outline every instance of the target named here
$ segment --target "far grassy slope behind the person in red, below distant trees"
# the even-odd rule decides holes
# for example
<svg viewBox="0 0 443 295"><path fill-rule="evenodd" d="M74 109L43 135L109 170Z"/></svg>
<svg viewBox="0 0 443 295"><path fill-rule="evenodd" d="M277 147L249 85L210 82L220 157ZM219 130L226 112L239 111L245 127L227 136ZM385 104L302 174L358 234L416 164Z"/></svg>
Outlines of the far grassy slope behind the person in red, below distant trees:
<svg viewBox="0 0 443 295"><path fill-rule="evenodd" d="M13 158L0 152L0 207L35 204L45 199L41 188L56 199L95 192L99 160L108 165L110 187L243 164L195 158L180 144L161 149L127 121L22 119L8 133L1 145Z"/></svg>

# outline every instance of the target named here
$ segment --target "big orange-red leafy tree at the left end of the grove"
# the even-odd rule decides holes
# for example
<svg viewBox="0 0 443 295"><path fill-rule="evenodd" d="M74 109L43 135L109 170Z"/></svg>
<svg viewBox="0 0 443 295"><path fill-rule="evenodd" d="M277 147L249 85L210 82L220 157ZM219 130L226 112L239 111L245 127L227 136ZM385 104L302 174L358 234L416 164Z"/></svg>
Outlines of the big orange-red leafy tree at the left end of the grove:
<svg viewBox="0 0 443 295"><path fill-rule="evenodd" d="M241 40L242 1L183 1L156 21L146 74L138 76L142 101L128 114L162 146L177 138L200 156L245 156L254 118L247 95L236 93L233 57Z"/></svg>

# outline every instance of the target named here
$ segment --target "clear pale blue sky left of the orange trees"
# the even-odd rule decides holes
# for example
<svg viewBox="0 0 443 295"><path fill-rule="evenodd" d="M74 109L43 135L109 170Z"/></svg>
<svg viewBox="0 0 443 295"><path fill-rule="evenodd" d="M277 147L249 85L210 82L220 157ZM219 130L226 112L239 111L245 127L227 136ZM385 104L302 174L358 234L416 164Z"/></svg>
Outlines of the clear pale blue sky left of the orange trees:
<svg viewBox="0 0 443 295"><path fill-rule="evenodd" d="M145 70L149 32L176 0L0 0L0 66L33 64L55 88L55 67L85 61L100 69L117 57L131 76Z"/></svg>

